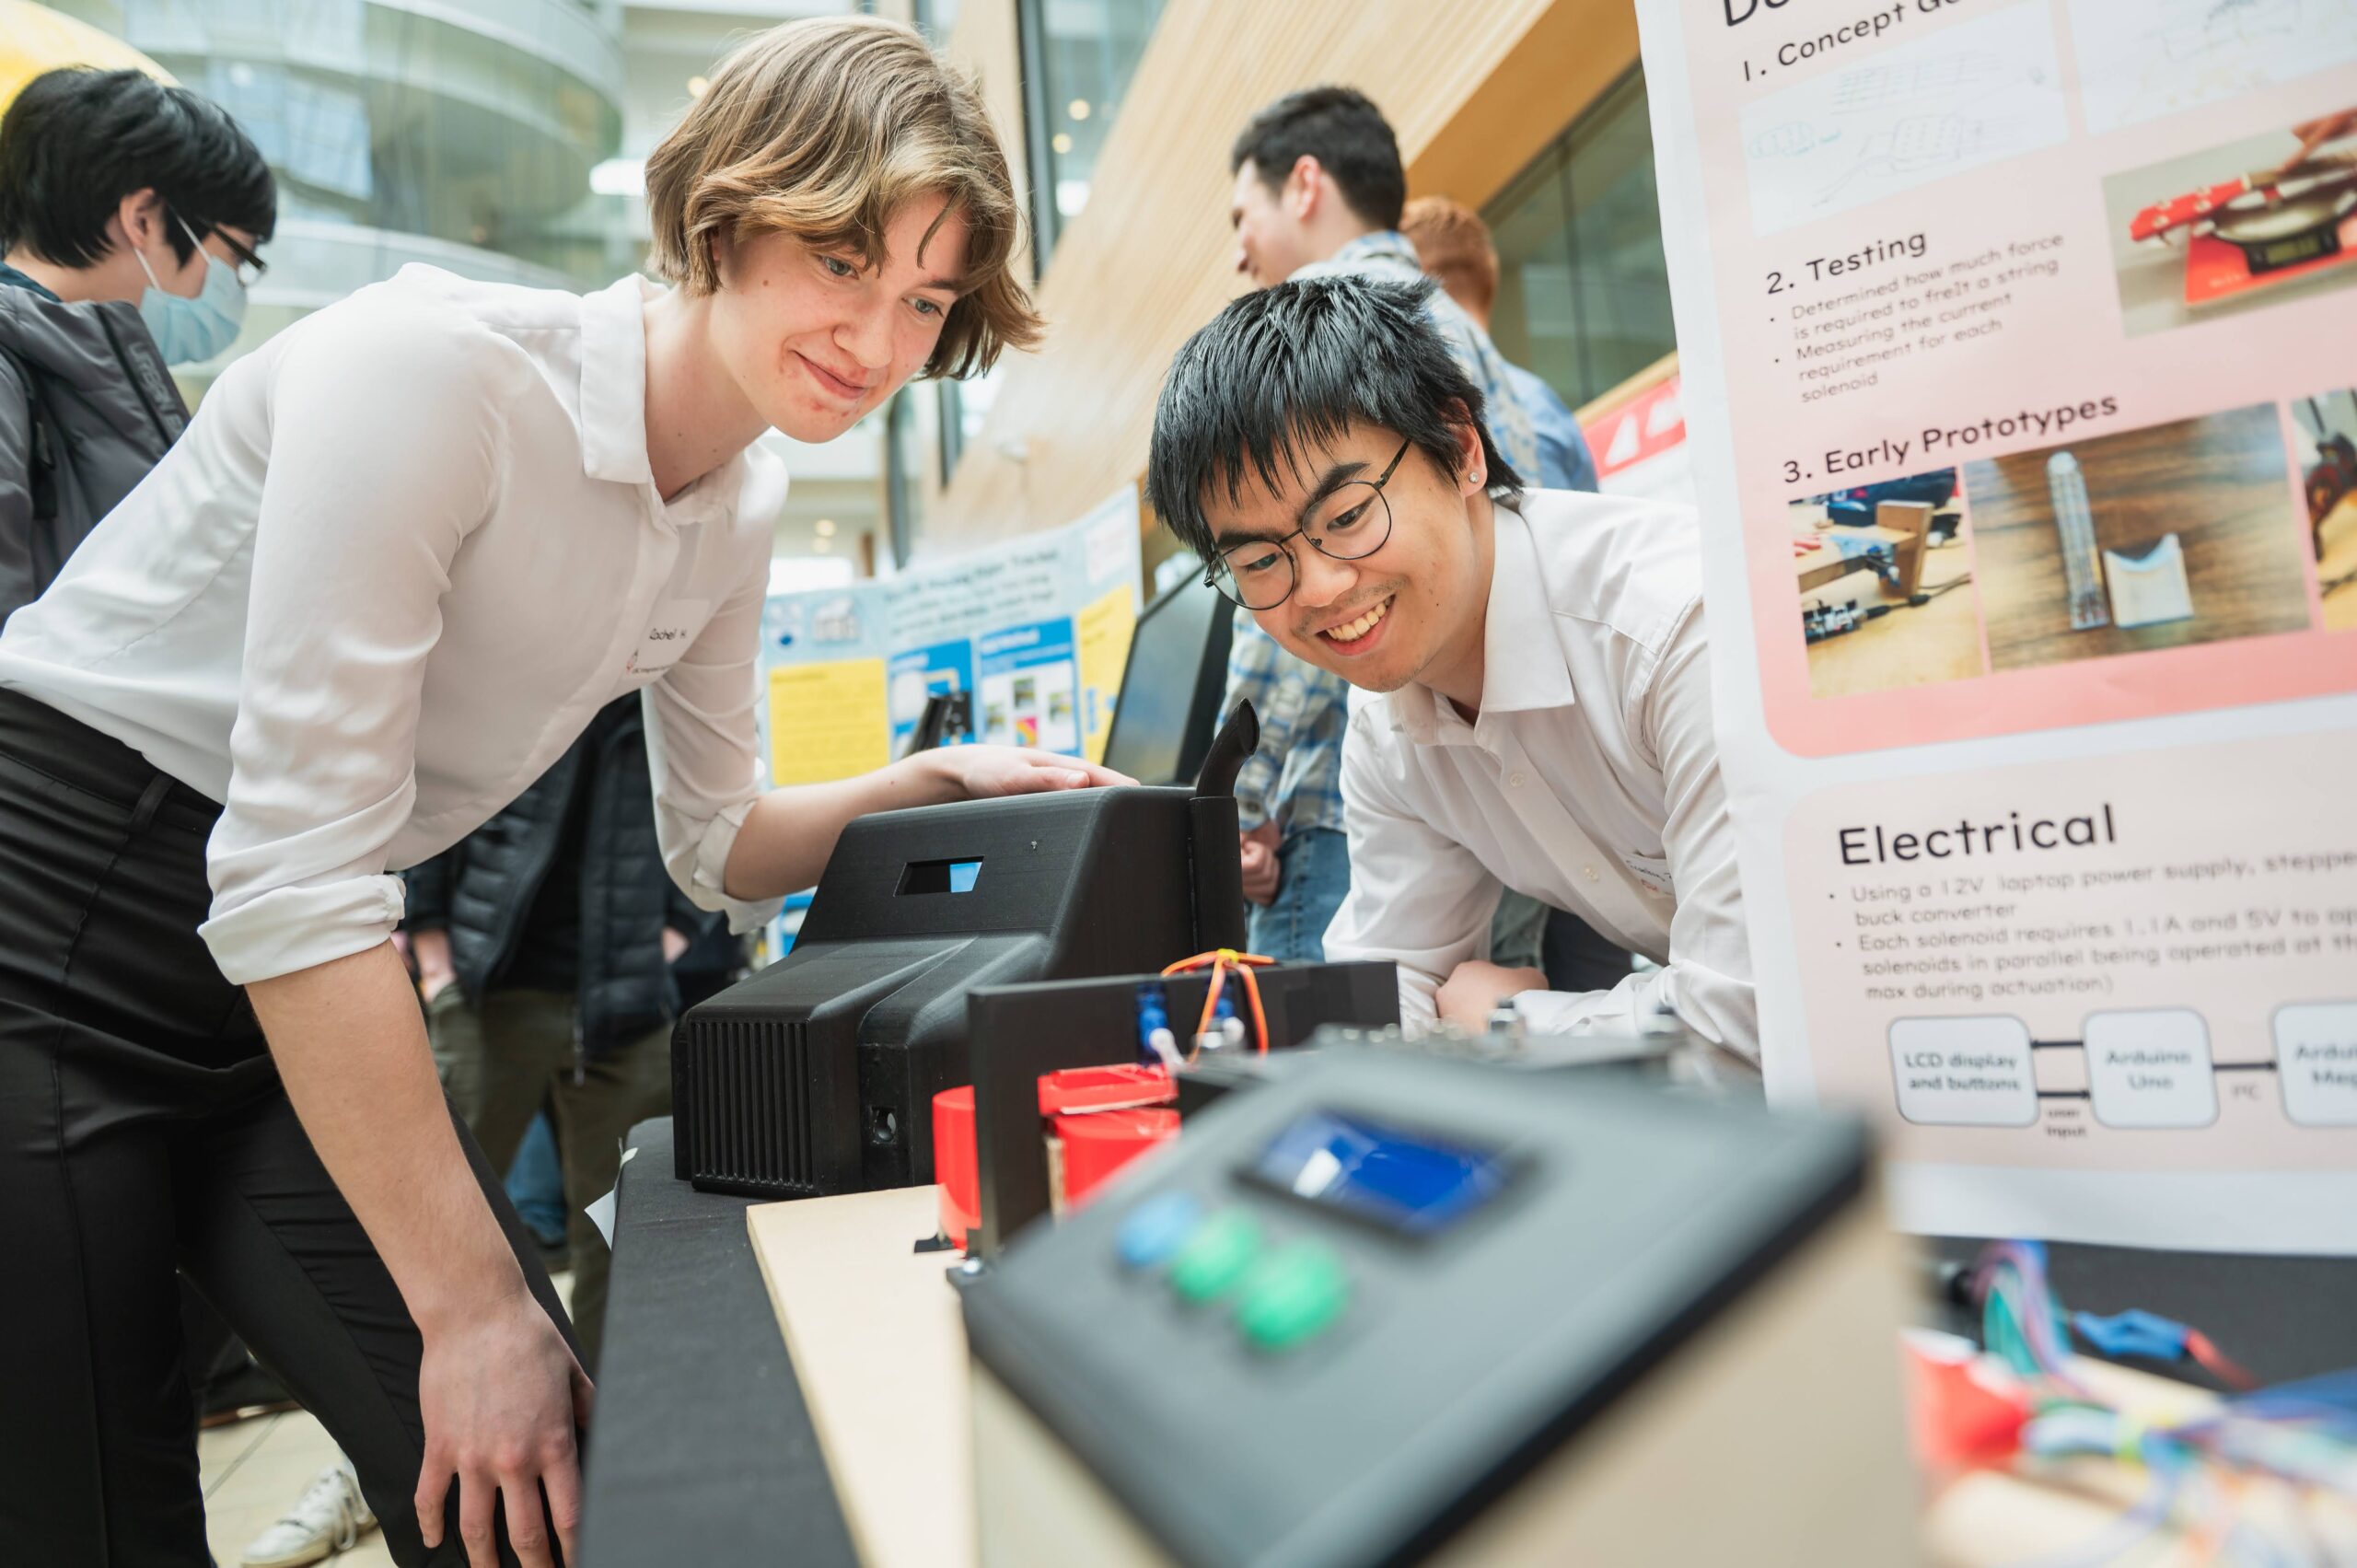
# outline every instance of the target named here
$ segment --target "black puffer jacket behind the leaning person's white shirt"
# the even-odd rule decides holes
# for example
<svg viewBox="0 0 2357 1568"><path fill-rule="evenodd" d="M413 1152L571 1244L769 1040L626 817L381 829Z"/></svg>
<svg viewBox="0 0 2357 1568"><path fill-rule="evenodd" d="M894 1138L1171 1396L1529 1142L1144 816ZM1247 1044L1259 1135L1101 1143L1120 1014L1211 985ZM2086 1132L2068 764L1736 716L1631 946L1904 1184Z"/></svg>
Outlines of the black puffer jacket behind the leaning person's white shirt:
<svg viewBox="0 0 2357 1568"><path fill-rule="evenodd" d="M580 846L580 1042L596 1056L679 1016L662 929L693 938L714 922L662 868L636 696L599 710L507 811L401 875L410 889L408 929L450 931L460 995L481 1004L516 955L575 788L589 790Z"/></svg>

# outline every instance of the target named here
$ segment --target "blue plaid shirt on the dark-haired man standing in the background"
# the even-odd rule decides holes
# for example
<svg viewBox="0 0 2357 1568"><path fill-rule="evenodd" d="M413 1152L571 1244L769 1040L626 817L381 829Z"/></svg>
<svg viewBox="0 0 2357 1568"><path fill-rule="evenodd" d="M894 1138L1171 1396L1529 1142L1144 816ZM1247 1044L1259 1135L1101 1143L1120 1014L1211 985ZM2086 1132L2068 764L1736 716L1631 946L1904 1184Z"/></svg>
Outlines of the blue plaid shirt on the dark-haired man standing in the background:
<svg viewBox="0 0 2357 1568"><path fill-rule="evenodd" d="M1424 266L1405 233L1384 229L1362 233L1325 262L1299 269L1296 278L1332 276L1384 278L1417 283ZM1480 387L1483 424L1490 441L1513 465L1523 483L1539 479L1539 436L1532 413L1508 380L1508 365L1497 344L1454 299L1433 290L1426 304L1433 328L1450 344L1459 368ZM1228 653L1228 700L1252 703L1261 717L1261 750L1235 776L1235 806L1244 828L1275 823L1280 837L1306 828L1341 832L1341 733L1348 724L1351 684L1339 674L1306 665L1263 632L1249 611L1235 613L1235 644Z"/></svg>

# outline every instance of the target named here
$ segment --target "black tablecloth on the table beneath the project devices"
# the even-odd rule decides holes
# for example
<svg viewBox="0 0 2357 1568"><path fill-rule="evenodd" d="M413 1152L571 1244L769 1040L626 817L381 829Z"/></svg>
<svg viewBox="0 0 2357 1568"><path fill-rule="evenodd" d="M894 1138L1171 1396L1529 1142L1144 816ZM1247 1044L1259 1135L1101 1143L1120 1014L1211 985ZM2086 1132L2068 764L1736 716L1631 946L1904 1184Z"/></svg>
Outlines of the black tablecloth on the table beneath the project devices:
<svg viewBox="0 0 2357 1568"><path fill-rule="evenodd" d="M639 1155L622 1167L589 1441L587 1568L856 1568L745 1231L754 1200L672 1177L669 1118L639 1122L629 1146ZM1961 1238L1928 1245L1947 1259L1980 1250ZM2265 1382L2357 1365L2357 1259L2048 1252L2067 1306L2180 1318Z"/></svg>

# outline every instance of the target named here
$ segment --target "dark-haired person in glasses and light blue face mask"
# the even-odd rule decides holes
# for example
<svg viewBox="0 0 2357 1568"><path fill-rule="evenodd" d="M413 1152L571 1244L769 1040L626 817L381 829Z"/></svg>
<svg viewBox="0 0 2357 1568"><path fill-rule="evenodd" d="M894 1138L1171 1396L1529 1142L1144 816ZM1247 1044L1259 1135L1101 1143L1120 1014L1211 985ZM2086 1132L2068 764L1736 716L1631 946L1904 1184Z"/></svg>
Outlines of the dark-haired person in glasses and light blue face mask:
<svg viewBox="0 0 2357 1568"><path fill-rule="evenodd" d="M139 71L47 71L0 118L0 620L189 422L165 365L245 318L278 193L217 104ZM243 276L240 276L243 274Z"/></svg>

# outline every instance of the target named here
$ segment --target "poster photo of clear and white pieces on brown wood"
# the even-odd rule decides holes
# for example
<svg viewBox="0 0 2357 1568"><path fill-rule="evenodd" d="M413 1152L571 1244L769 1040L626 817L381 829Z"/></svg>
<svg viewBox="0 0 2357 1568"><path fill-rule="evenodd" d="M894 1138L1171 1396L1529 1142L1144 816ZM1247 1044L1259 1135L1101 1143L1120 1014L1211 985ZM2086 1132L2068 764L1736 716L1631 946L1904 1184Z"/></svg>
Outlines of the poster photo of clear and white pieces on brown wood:
<svg viewBox="0 0 2357 1568"><path fill-rule="evenodd" d="M1992 670L2312 625L2275 403L1973 462L1963 493Z"/></svg>

